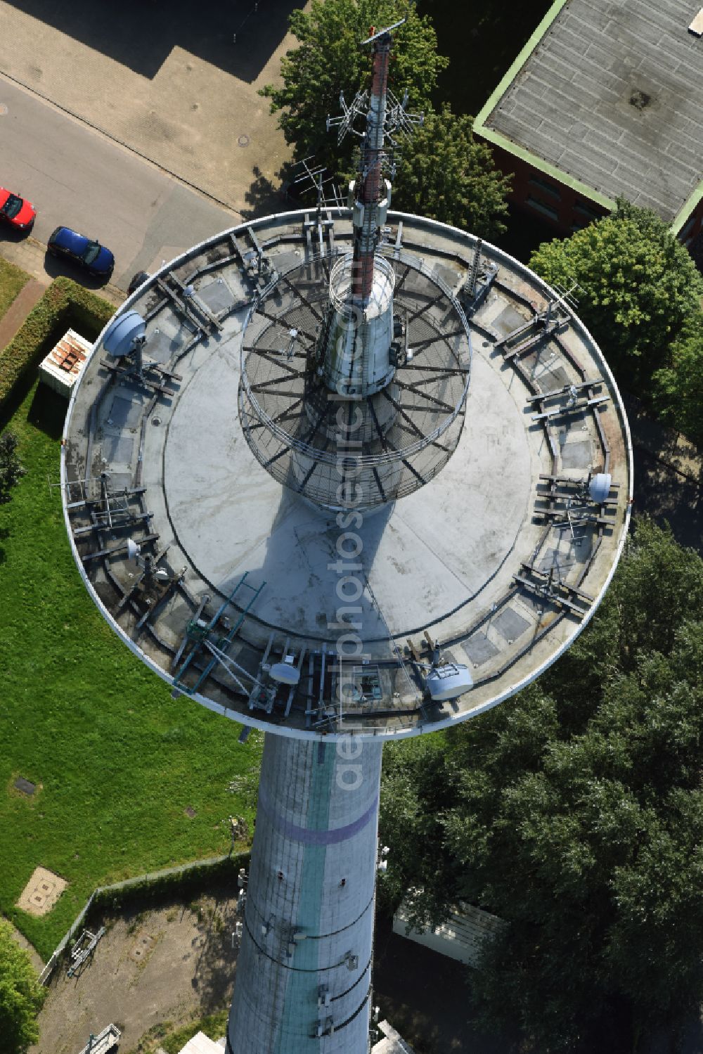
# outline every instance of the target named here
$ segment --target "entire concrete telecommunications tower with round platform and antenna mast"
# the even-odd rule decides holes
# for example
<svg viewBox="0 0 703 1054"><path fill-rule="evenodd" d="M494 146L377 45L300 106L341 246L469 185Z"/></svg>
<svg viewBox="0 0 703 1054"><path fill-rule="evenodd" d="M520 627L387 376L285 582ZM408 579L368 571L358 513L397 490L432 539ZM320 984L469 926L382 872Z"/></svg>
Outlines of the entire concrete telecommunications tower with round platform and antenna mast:
<svg viewBox="0 0 703 1054"><path fill-rule="evenodd" d="M64 515L103 617L183 706L266 733L230 1054L369 1050L383 743L538 677L629 520L626 417L569 295L390 211L418 120L388 87L401 24L364 42L371 87L330 122L362 132L348 207L164 267L65 426Z"/></svg>

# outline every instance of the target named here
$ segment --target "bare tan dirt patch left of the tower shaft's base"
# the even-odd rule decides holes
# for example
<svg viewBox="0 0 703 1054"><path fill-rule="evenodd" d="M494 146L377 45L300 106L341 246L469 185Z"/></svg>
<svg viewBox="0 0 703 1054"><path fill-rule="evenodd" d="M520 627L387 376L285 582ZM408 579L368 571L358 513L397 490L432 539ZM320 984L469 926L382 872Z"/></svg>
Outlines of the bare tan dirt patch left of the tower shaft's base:
<svg viewBox="0 0 703 1054"><path fill-rule="evenodd" d="M91 1032L111 1022L122 1031L120 1050L129 1052L156 1024L184 1024L228 1006L235 918L236 896L218 891L189 904L102 920L108 932L82 973L69 978L65 962L57 969L31 1054L78 1054ZM91 920L91 929L99 924Z"/></svg>

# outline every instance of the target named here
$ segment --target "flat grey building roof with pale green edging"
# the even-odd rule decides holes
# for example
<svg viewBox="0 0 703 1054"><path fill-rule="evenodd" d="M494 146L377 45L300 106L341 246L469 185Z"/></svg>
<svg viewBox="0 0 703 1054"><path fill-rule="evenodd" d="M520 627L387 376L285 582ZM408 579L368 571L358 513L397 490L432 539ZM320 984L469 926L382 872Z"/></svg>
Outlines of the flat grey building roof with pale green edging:
<svg viewBox="0 0 703 1054"><path fill-rule="evenodd" d="M611 208L675 231L703 197L699 0L556 0L475 131Z"/></svg>

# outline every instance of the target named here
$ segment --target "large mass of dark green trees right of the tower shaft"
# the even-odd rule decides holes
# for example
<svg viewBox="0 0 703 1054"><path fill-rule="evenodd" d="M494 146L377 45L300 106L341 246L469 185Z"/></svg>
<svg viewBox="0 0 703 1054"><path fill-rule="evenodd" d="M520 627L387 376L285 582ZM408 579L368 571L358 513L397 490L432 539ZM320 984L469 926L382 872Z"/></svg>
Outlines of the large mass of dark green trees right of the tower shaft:
<svg viewBox="0 0 703 1054"><path fill-rule="evenodd" d="M530 1050L637 1050L700 1004L702 611L703 560L642 521L591 625L539 684L452 731L430 764L402 746L385 758L389 892L422 890L418 919L464 898L508 921L472 998Z"/></svg>

